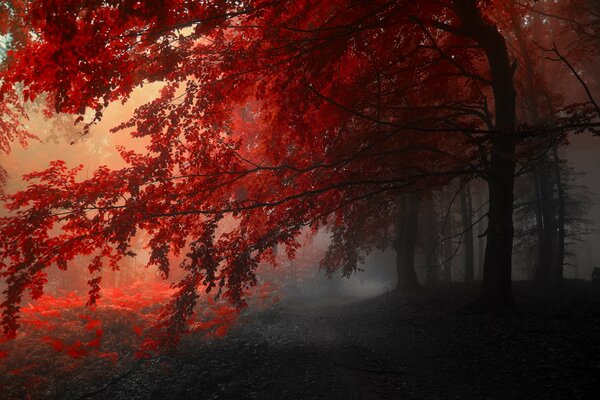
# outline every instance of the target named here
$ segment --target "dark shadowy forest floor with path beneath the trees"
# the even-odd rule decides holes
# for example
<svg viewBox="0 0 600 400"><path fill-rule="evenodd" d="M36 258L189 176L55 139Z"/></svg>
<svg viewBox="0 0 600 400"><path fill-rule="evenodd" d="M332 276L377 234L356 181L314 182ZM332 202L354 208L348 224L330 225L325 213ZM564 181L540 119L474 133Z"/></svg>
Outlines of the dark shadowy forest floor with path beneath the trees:
<svg viewBox="0 0 600 400"><path fill-rule="evenodd" d="M516 283L518 308L466 315L475 288L287 299L224 339L186 339L79 388L94 399L600 398L600 290ZM111 377L112 376L112 377ZM88 392L85 392L89 390ZM1 397L1 396L0 396Z"/></svg>

